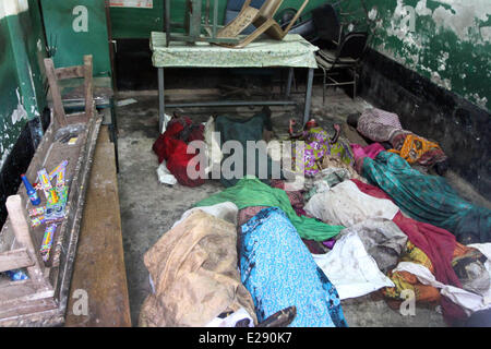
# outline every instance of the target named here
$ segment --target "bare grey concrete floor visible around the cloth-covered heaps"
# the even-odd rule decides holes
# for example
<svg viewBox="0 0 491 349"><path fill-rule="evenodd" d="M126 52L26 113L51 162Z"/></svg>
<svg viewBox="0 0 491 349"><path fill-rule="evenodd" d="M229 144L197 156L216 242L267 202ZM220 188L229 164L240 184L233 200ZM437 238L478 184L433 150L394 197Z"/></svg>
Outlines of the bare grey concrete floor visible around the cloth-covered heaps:
<svg viewBox="0 0 491 349"><path fill-rule="evenodd" d="M129 96L131 94L124 94L124 97ZM160 184L156 176L157 157L152 151L152 144L158 136L158 98L141 94L131 97L137 103L117 110L120 159L118 181L131 317L133 325L137 325L140 308L151 292L143 254L169 230L184 210L224 188L218 181L207 181L193 189L180 184ZM322 106L322 89L314 88L312 115L321 120L323 127L344 122L349 113L361 111L368 104L361 98L352 100L343 92L332 89L326 105ZM294 111L272 109L274 131L277 134L286 133L288 119ZM206 121L209 116L203 109L194 112L187 115L197 122ZM252 115L254 111L237 108L237 112ZM388 308L383 299L374 297L374 293L346 300L342 304L351 327L445 326L442 315L434 310L417 306L415 316L403 316Z"/></svg>

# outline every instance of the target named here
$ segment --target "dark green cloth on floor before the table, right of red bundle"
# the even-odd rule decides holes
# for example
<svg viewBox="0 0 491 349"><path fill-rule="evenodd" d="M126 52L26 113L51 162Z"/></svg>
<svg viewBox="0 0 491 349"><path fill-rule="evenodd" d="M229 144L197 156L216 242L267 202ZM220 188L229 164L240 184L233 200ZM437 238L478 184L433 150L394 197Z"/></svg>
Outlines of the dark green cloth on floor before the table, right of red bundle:
<svg viewBox="0 0 491 349"><path fill-rule="evenodd" d="M227 179L225 178L224 169L227 169L228 166L221 166L223 172L220 176L220 182L225 186L231 186L237 184L239 179L243 178L246 174L254 174L258 178L261 178L259 172L259 163L261 157L267 158L267 176L265 179L261 179L266 184L270 184L270 180L267 178L272 178L272 159L267 155L266 149L264 152L256 148L253 153L249 154L247 142L248 141L262 141L263 140L263 131L272 130L271 117L265 112L260 112L249 119L236 119L229 118L226 116L219 116L215 120L215 131L220 133L220 147L224 149L224 143L228 141L237 141L241 144L243 149L243 157L240 159L243 164L243 171L237 176L238 178ZM224 158L221 160L221 165L227 161L228 158L232 157L232 154L224 154ZM248 159L254 159L254 168L248 168ZM231 159L230 159L231 160ZM278 168L280 166L278 165ZM230 169L235 170L235 164L230 167ZM279 171L278 178L280 179L282 173Z"/></svg>

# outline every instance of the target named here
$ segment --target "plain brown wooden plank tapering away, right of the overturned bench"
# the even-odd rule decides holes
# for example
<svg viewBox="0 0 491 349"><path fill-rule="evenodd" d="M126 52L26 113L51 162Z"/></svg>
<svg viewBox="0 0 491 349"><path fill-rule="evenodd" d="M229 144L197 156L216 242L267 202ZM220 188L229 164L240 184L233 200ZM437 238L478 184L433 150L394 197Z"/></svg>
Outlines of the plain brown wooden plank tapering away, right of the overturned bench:
<svg viewBox="0 0 491 349"><path fill-rule="evenodd" d="M89 263L88 263L89 262ZM85 290L88 314L73 313L74 291ZM103 127L87 188L65 326L131 326L115 147Z"/></svg>

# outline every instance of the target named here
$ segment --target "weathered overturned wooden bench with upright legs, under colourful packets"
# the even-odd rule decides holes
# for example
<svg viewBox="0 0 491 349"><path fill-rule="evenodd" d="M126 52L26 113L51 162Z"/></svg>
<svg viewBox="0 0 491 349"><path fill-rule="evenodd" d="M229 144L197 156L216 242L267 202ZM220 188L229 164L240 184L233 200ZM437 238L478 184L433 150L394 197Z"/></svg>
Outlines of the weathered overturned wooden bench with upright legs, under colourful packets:
<svg viewBox="0 0 491 349"><path fill-rule="evenodd" d="M16 195L7 198L9 217L0 230L0 272L26 268L29 278L0 278L0 326L53 326L64 322L84 196L101 122L92 95L92 56L84 57L83 65L55 69L52 60L46 59L45 67L53 118L25 174L35 182L41 168L52 169L69 160L65 218L58 225L50 256L44 262L39 248L45 227L29 225L31 203L25 189L21 186ZM67 116L57 81L73 77L85 79L85 112ZM75 144L60 142L67 134L76 134ZM43 205L46 200L39 196Z"/></svg>

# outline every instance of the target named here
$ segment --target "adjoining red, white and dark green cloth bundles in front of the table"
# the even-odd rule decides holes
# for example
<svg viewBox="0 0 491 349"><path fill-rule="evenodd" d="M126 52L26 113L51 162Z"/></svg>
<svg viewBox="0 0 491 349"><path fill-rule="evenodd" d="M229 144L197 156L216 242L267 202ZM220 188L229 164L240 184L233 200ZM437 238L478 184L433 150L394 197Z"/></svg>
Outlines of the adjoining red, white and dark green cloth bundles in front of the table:
<svg viewBox="0 0 491 349"><path fill-rule="evenodd" d="M274 172L265 147L248 146L248 142L268 141L271 133L268 108L247 119L211 117L205 124L195 124L189 117L175 116L153 145L160 164L157 169L159 181L197 186L208 178L216 178L225 186L231 186L247 174L261 177L265 183L270 183L271 178L283 178L280 171ZM201 143L191 143L193 141ZM255 159L254 164L248 164L249 158ZM260 163L262 159L265 159L265 165ZM243 166L236 168L236 164ZM266 171L266 176L262 171Z"/></svg>

